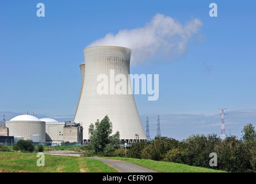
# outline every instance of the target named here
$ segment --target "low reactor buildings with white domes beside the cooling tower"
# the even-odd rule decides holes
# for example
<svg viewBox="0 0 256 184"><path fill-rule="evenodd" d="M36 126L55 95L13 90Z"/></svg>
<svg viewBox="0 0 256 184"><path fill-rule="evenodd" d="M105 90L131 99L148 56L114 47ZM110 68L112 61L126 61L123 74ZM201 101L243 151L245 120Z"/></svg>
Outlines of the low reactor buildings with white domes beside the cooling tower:
<svg viewBox="0 0 256 184"><path fill-rule="evenodd" d="M64 129L65 128L65 129ZM65 130L65 131L64 131ZM16 116L0 127L0 141L17 143L18 140L32 140L45 145L82 143L83 128L70 121L59 122L52 118L37 118L28 114Z"/></svg>

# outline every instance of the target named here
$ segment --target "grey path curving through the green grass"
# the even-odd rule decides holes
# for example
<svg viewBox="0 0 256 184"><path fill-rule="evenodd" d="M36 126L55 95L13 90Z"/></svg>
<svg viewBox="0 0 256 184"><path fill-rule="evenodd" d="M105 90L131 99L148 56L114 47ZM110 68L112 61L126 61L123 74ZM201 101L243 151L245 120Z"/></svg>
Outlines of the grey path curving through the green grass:
<svg viewBox="0 0 256 184"><path fill-rule="evenodd" d="M121 160L103 159L95 157L91 157L91 159L101 160L102 162L105 162L109 166L115 168L117 171L119 171L119 173L156 173L156 171L150 170L148 168L137 166L136 164Z"/></svg>

